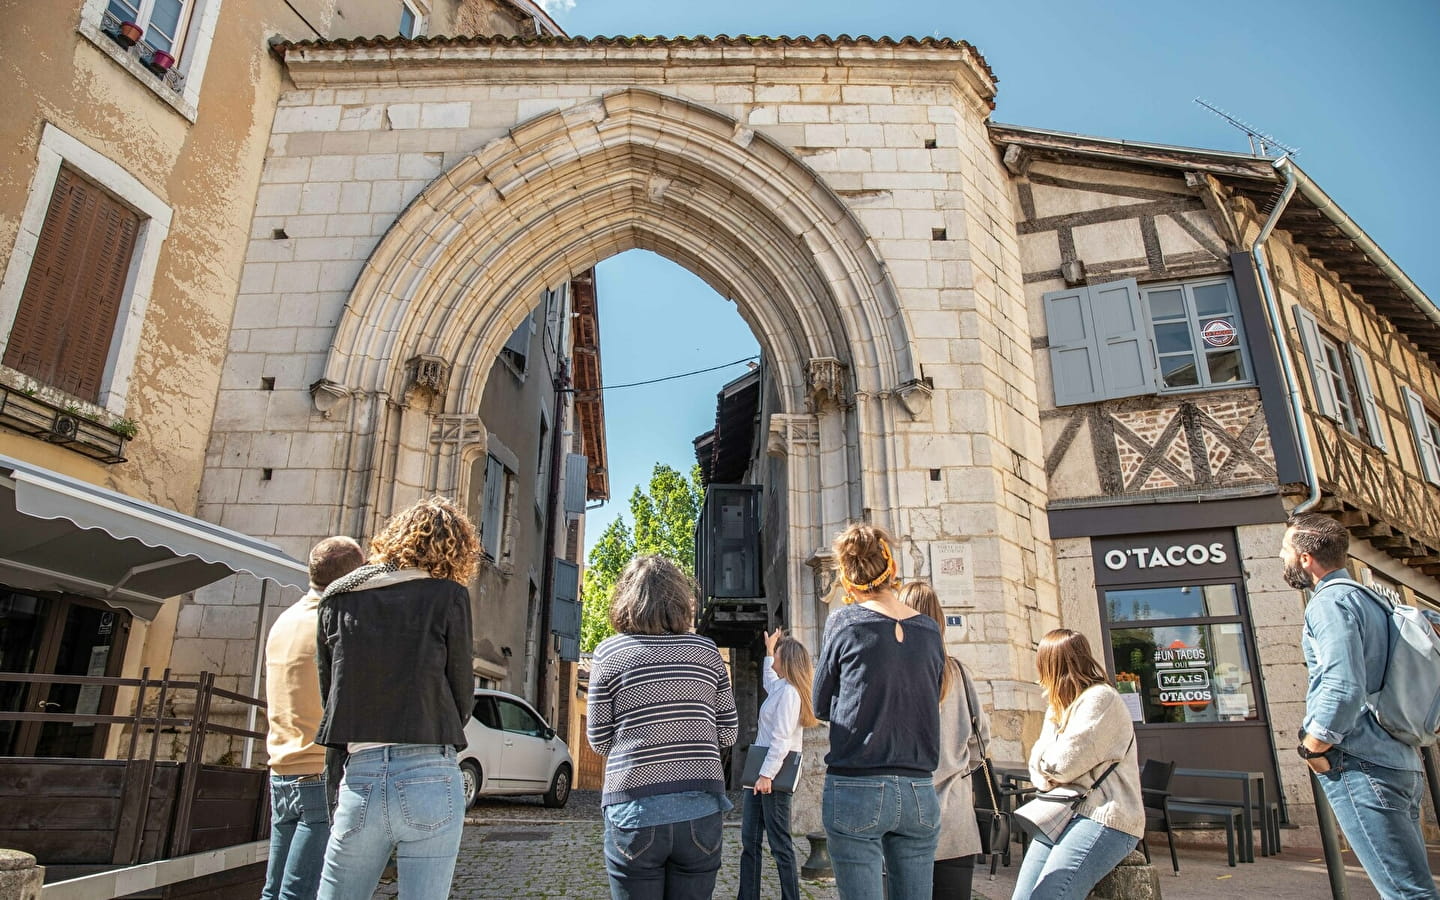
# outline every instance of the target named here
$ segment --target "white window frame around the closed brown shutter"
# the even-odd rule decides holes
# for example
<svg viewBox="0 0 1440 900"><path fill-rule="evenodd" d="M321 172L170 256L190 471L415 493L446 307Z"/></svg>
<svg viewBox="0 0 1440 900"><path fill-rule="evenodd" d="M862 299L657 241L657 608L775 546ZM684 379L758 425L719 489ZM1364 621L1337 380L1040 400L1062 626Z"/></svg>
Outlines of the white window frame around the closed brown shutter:
<svg viewBox="0 0 1440 900"><path fill-rule="evenodd" d="M171 209L120 164L50 122L45 122L45 130L40 132L30 194L20 216L20 232L16 235L4 278L0 279L0 356L4 356L10 343L10 331L20 311L24 284L30 278L30 265L35 262L40 229L45 228L45 216L50 209L50 196L55 193L62 164L95 181L141 216L99 389L99 406L122 416L130 379L135 370L135 356L140 351L145 311L150 308L150 291L156 281L160 248L170 235Z"/></svg>

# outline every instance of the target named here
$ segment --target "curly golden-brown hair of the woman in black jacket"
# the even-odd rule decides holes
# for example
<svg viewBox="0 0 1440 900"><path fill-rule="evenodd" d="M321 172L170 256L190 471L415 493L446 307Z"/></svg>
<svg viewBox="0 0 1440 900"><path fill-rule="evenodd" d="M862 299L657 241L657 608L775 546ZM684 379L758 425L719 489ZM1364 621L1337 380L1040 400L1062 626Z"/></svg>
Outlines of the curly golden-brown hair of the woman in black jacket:
<svg viewBox="0 0 1440 900"><path fill-rule="evenodd" d="M370 540L370 562L425 569L431 577L468 585L480 564L475 526L444 497L420 500L384 523Z"/></svg>

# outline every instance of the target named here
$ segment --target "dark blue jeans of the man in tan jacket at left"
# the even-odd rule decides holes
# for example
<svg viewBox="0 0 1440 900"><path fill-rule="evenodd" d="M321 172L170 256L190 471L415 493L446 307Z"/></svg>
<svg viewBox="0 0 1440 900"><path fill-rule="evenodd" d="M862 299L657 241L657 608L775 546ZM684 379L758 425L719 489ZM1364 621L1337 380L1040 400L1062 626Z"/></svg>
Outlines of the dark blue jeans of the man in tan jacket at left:
<svg viewBox="0 0 1440 900"><path fill-rule="evenodd" d="M271 775L271 854L261 900L310 900L330 840L323 775Z"/></svg>

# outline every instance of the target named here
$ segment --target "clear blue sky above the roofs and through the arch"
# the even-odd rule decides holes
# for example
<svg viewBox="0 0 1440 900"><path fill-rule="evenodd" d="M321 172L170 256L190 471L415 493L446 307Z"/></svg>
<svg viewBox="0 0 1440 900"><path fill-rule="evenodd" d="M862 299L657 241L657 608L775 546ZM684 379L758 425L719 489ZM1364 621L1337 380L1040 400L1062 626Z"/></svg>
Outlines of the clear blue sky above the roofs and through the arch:
<svg viewBox="0 0 1440 900"><path fill-rule="evenodd" d="M1217 150L1244 135L1210 102L1299 147L1300 167L1431 298L1440 298L1440 3L1136 0L547 0L572 35L916 35L973 43L999 78L995 121ZM756 351L734 307L672 264L600 265L608 384ZM743 372L606 396L611 491L588 539L655 461L688 467L719 387Z"/></svg>

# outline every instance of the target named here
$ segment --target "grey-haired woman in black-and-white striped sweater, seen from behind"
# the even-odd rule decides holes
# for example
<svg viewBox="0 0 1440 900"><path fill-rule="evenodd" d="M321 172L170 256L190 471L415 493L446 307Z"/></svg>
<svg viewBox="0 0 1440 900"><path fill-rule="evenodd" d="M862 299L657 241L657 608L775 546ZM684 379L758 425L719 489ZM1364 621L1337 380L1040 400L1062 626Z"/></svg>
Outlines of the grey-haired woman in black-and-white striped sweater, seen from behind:
<svg viewBox="0 0 1440 900"><path fill-rule="evenodd" d="M739 719L714 641L693 634L696 590L670 560L641 556L615 583L590 665L586 736L606 757L605 868L615 900L710 897L720 871L720 749Z"/></svg>

